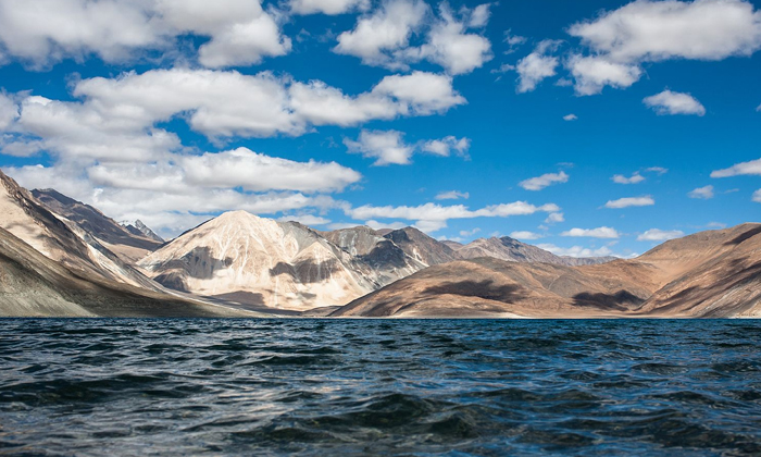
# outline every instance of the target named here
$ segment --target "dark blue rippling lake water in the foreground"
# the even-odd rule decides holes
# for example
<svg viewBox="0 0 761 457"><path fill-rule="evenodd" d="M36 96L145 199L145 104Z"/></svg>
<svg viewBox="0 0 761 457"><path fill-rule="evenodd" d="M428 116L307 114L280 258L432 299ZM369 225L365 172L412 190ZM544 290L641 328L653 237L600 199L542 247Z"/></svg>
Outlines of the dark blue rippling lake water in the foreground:
<svg viewBox="0 0 761 457"><path fill-rule="evenodd" d="M761 322L0 320L0 455L759 455Z"/></svg>

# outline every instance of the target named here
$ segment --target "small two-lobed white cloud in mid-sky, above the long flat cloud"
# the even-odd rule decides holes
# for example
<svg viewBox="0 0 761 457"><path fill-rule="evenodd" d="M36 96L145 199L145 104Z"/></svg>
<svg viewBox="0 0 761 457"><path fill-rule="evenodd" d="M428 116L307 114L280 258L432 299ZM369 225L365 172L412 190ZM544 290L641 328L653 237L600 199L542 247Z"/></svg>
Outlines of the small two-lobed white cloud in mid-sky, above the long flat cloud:
<svg viewBox="0 0 761 457"><path fill-rule="evenodd" d="M461 157L467 157L471 140L447 136L441 139L431 139L407 144L404 134L398 131L366 131L360 132L357 140L344 139L349 152L361 153L363 157L377 159L374 165L407 165L411 163L412 155L422 151L434 156L449 157L452 151Z"/></svg>

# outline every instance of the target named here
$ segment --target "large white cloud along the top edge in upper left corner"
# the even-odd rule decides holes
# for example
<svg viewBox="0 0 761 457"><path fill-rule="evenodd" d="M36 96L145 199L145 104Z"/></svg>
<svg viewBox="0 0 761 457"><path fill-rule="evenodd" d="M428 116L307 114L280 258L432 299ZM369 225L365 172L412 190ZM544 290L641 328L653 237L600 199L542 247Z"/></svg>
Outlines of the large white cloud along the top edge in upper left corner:
<svg viewBox="0 0 761 457"><path fill-rule="evenodd" d="M34 17L34 20L30 20ZM275 15L260 1L9 0L0 3L0 46L35 66L97 54L107 62L171 49L184 35L208 37L205 66L250 65L290 51Z"/></svg>

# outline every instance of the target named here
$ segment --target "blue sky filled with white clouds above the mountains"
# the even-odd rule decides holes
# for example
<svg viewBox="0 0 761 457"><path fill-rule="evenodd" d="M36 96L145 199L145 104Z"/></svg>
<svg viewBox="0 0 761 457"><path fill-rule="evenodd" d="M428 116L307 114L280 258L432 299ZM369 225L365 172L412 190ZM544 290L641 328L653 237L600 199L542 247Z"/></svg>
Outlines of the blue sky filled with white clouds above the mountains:
<svg viewBox="0 0 761 457"><path fill-rule="evenodd" d="M0 168L165 237L242 209L632 257L761 221L760 126L759 2L0 2Z"/></svg>

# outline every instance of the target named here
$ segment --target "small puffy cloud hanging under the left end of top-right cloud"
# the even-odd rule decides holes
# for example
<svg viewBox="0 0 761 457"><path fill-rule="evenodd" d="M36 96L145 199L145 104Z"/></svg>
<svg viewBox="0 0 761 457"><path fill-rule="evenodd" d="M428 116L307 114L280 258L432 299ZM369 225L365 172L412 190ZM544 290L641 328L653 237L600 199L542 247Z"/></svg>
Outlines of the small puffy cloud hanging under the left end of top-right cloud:
<svg viewBox="0 0 761 457"><path fill-rule="evenodd" d="M595 95L606 86L626 88L639 81L643 71L637 65L611 62L602 57L572 55L566 62L579 96Z"/></svg>

